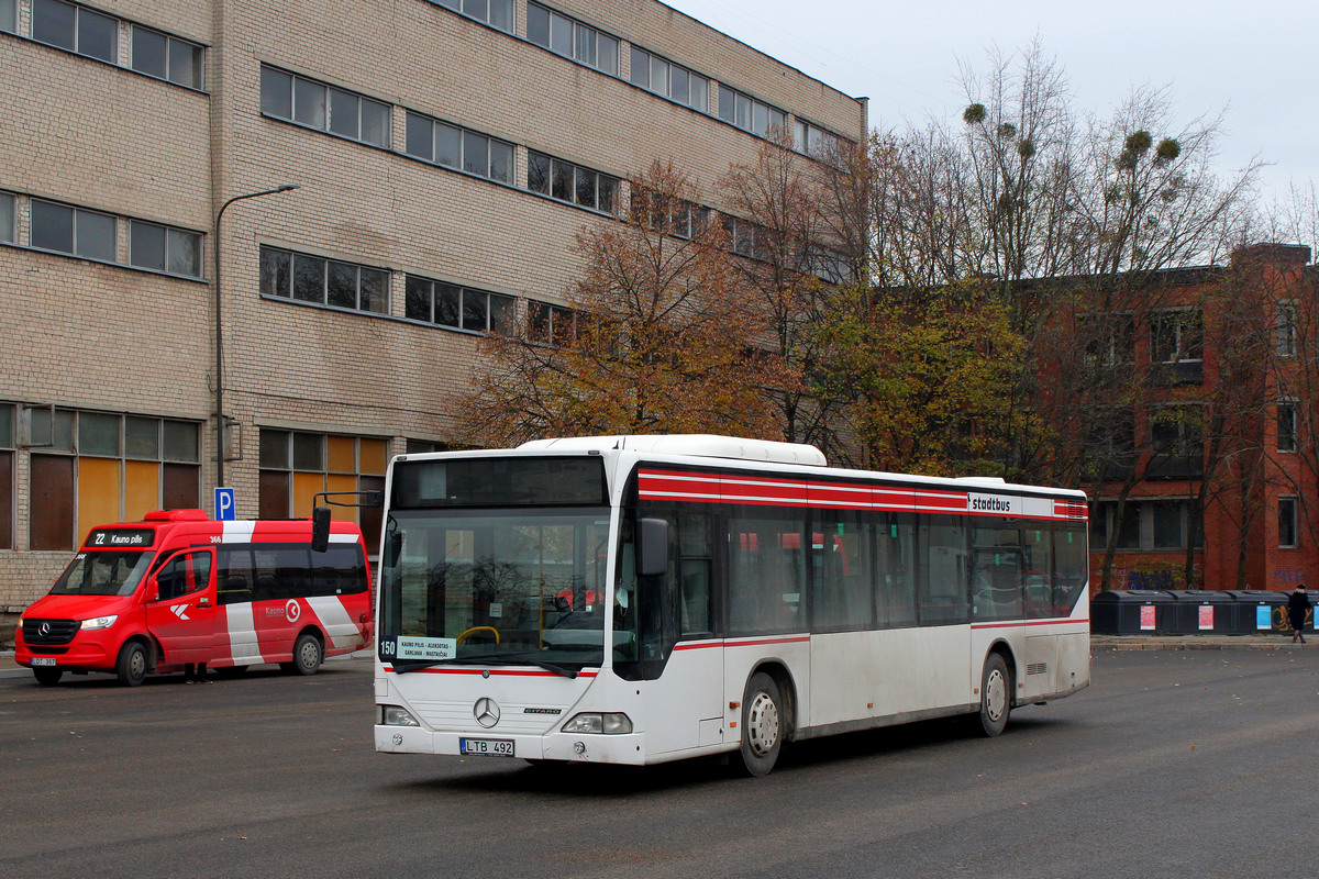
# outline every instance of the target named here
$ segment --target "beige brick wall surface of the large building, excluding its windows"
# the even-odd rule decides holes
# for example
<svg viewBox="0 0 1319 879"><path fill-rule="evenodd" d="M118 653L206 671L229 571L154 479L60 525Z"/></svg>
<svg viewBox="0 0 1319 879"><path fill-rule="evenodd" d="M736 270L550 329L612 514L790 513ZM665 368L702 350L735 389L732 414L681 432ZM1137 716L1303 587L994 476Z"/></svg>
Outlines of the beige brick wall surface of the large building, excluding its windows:
<svg viewBox="0 0 1319 879"><path fill-rule="evenodd" d="M0 34L0 190L202 232L210 281L218 207L302 187L224 215L226 411L244 440L226 482L240 517L257 511L262 426L383 436L392 453L404 438L445 436L446 398L468 381L476 337L404 320L406 274L562 300L580 269L575 236L611 221L404 156L402 108L516 144L518 186L528 149L620 178L663 159L716 208L720 177L762 145L629 84L625 43L613 78L425 0L88 5L206 45L206 91ZM864 134L864 100L663 4L546 5L710 76L712 107L723 80L843 136ZM20 7L26 21L26 0ZM525 0L516 9L525 34ZM125 58L128 42L125 28ZM262 63L392 104L393 149L262 116ZM33 252L24 235L20 246L0 245L0 402L193 419L203 424L203 460L212 457L212 285ZM390 315L262 299L262 244L392 270ZM45 592L67 557L24 550L26 453L16 457L18 548L0 551L0 611ZM207 506L214 478L207 461Z"/></svg>

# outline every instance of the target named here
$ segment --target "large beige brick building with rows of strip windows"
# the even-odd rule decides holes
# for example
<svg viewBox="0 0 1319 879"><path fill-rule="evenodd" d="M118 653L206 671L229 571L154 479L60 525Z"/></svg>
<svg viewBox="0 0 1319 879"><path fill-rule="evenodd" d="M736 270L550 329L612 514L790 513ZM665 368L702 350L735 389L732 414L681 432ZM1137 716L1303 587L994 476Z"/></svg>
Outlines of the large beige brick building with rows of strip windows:
<svg viewBox="0 0 1319 879"><path fill-rule="evenodd" d="M306 515L446 440L479 333L563 302L629 177L718 211L770 127L867 129L656 0L0 0L0 613L94 525L211 509L233 196L299 187L223 213L223 477Z"/></svg>

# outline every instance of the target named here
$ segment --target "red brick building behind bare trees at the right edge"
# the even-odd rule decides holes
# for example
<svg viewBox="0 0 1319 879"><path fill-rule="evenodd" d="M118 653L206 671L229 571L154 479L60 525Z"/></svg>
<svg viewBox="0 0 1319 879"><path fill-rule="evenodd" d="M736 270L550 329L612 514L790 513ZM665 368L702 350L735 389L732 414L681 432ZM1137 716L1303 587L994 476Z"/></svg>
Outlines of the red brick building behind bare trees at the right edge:
<svg viewBox="0 0 1319 879"><path fill-rule="evenodd" d="M1080 299L1074 360L1099 376L1079 397L1093 590L1319 582L1308 262L1307 246L1256 245Z"/></svg>

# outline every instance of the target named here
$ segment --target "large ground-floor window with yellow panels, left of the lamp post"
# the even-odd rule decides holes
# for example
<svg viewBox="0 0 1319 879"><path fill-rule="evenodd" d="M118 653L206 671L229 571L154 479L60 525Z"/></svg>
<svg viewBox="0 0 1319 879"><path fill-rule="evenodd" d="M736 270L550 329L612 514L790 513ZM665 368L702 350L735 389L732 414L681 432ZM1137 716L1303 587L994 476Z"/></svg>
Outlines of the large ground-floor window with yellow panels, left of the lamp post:
<svg viewBox="0 0 1319 879"><path fill-rule="evenodd" d="M29 546L71 550L90 528L200 501L200 424L33 409Z"/></svg>

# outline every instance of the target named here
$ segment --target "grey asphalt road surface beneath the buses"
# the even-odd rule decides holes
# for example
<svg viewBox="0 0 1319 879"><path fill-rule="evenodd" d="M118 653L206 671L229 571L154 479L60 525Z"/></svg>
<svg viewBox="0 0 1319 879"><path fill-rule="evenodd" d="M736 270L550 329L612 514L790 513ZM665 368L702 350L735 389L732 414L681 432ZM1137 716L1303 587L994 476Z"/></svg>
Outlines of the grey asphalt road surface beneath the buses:
<svg viewBox="0 0 1319 879"><path fill-rule="evenodd" d="M0 876L1319 875L1319 651L1097 652L997 739L930 722L545 771L379 755L371 663L0 679Z"/></svg>

